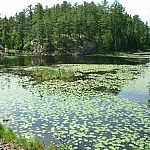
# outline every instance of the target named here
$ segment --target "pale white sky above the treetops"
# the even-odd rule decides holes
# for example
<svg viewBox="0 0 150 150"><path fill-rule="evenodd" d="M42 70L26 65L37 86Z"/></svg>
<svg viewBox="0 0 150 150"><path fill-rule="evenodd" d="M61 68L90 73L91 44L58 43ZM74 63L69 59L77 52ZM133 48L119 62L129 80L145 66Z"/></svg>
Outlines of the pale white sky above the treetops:
<svg viewBox="0 0 150 150"><path fill-rule="evenodd" d="M14 16L15 13L21 12L26 9L28 5L32 4L35 6L41 3L43 7L46 6L53 7L54 4L62 4L64 0L0 0L0 17L3 18L5 15L7 17ZM91 2L92 0L66 0L72 5L74 3L83 4L84 1ZM111 5L114 0L107 0L109 5ZM95 4L102 2L102 0L93 0ZM128 14L139 15L139 18L150 25L150 2L149 0L119 0L122 6L125 8Z"/></svg>

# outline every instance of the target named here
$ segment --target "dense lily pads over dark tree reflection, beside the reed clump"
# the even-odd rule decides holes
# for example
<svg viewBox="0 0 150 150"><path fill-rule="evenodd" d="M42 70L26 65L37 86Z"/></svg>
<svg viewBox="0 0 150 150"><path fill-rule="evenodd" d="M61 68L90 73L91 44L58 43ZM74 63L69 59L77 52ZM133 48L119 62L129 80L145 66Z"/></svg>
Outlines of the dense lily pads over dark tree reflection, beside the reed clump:
<svg viewBox="0 0 150 150"><path fill-rule="evenodd" d="M74 81L67 82L62 80L54 80L53 82L42 83L45 86L50 86L51 92L60 96L64 94L73 94L76 96L95 95L99 93L114 93L117 94L131 80L136 80L137 76L144 72L142 65L87 65L87 64L63 64L57 65L59 70L69 70L74 72ZM39 67L41 69L49 69L47 67ZM57 69L58 69L57 68ZM27 70L35 70L28 68ZM69 86L68 86L69 85ZM86 85L86 86L85 86ZM39 88L40 86L37 85ZM60 91L59 91L60 90ZM41 89L42 91L42 89ZM62 94L63 92L63 94Z"/></svg>

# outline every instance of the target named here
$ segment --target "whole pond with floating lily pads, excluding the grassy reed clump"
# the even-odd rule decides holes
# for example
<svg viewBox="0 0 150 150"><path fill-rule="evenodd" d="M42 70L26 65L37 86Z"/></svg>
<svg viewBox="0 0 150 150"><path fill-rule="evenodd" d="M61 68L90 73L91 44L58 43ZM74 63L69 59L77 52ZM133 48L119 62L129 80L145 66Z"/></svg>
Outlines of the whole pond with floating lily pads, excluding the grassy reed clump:
<svg viewBox="0 0 150 150"><path fill-rule="evenodd" d="M32 66L76 71L74 81L40 82ZM0 122L26 138L69 149L150 147L149 59L1 57ZM19 67L18 67L19 66Z"/></svg>

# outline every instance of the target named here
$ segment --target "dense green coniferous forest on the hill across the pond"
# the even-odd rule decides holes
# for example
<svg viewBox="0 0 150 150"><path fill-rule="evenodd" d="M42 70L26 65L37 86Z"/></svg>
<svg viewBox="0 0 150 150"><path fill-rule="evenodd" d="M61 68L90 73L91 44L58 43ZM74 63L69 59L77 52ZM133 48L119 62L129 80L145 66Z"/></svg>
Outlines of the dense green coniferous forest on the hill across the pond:
<svg viewBox="0 0 150 150"><path fill-rule="evenodd" d="M112 5L64 1L51 8L38 3L0 18L1 47L33 51L34 43L49 53L136 52L150 48L150 27L117 0Z"/></svg>

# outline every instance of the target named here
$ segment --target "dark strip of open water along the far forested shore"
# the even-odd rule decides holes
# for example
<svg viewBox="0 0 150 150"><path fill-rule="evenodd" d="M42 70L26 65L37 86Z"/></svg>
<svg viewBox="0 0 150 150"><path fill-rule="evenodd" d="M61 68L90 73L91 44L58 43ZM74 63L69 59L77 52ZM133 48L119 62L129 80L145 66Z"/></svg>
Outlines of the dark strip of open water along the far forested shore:
<svg viewBox="0 0 150 150"><path fill-rule="evenodd" d="M104 56L84 57L52 57L52 56L6 56L0 57L0 65L10 66L47 66L51 64L117 64L136 65L145 64L149 59L129 59Z"/></svg>

